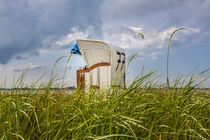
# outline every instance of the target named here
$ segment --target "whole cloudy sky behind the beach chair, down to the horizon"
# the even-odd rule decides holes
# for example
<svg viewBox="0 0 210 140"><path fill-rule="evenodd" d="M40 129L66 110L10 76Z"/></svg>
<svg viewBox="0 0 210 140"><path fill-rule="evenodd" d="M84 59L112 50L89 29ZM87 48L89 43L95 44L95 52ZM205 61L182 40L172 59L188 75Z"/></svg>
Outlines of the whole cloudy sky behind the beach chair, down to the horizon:
<svg viewBox="0 0 210 140"><path fill-rule="evenodd" d="M170 79L187 75L195 67L209 69L209 13L210 0L0 0L0 86L12 87L26 69L26 86L45 73L42 80L49 80L55 61L70 54L75 39L122 47L127 60L137 53L128 68L128 81L142 67L145 72L156 70L165 79L168 40L180 27L186 29L173 36ZM137 32L145 38L136 38ZM58 77L66 61L56 65ZM84 62L73 55L67 66L71 70L66 73L66 86L76 86L76 70Z"/></svg>

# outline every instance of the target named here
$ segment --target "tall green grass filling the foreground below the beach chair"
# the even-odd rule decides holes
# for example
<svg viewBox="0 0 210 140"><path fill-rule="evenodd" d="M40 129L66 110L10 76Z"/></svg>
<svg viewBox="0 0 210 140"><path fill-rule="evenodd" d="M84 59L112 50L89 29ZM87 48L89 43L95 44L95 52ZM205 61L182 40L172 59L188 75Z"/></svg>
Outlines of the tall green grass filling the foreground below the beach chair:
<svg viewBox="0 0 210 140"><path fill-rule="evenodd" d="M199 75L199 79L206 72ZM148 73L126 89L89 93L50 90L0 92L1 139L208 139L209 92L197 76L157 88ZM23 85L23 75L16 87ZM188 79L188 80L187 80ZM188 82L187 82L188 81ZM179 87L179 88L178 88ZM39 90L39 89L44 90Z"/></svg>

